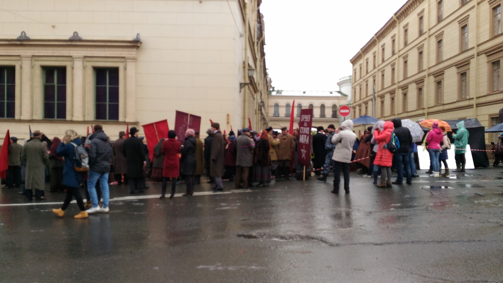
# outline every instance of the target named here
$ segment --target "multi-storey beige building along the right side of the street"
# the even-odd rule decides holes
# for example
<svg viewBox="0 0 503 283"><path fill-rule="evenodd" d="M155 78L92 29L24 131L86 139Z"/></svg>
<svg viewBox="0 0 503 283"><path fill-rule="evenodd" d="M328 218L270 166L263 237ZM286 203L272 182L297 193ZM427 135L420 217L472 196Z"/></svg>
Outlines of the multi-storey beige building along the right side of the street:
<svg viewBox="0 0 503 283"><path fill-rule="evenodd" d="M409 0L351 59L352 108L376 118L477 118L503 107L501 0ZM493 142L493 135L488 136Z"/></svg>

